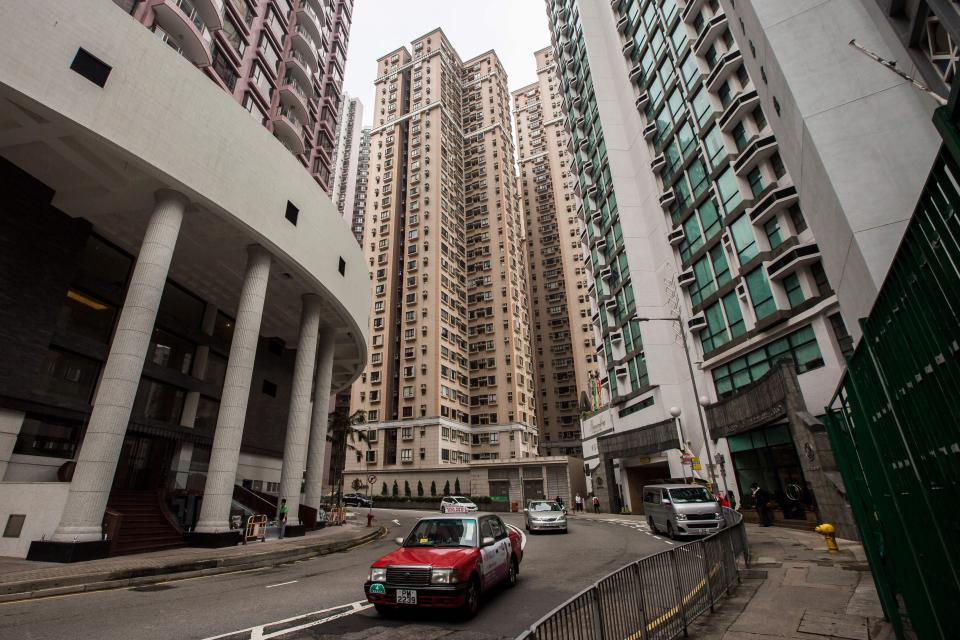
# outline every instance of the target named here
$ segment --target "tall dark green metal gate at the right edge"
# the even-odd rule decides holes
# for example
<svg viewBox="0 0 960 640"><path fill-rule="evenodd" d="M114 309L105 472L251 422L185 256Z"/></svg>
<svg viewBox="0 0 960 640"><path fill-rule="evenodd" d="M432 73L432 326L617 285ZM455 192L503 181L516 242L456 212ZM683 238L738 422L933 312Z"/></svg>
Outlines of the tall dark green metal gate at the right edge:
<svg viewBox="0 0 960 640"><path fill-rule="evenodd" d="M948 114L935 117L944 146L826 419L899 637L960 636L960 138Z"/></svg>

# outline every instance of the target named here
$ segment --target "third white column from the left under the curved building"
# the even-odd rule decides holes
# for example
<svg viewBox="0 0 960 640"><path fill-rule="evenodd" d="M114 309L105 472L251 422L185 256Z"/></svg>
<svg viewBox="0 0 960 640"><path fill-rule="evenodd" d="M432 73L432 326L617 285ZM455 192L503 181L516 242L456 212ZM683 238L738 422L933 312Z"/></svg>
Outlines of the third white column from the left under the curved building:
<svg viewBox="0 0 960 640"><path fill-rule="evenodd" d="M320 329L320 298L303 296L300 311L300 337L293 364L293 383L290 387L290 412L287 415L287 437L283 446L283 466L280 469L280 495L287 499L287 526L300 524L300 485L307 458L310 437L310 387L313 385L314 363L317 359L317 331Z"/></svg>

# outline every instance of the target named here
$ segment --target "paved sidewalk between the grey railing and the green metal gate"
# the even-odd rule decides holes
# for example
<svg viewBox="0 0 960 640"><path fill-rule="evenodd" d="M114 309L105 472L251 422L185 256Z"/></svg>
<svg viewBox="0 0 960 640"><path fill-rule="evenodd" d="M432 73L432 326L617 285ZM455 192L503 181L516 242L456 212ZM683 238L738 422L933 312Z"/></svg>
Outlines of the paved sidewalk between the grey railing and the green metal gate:
<svg viewBox="0 0 960 640"><path fill-rule="evenodd" d="M753 562L741 586L691 625L690 638L894 638L859 544L839 540L831 554L815 533L752 524L747 538Z"/></svg>

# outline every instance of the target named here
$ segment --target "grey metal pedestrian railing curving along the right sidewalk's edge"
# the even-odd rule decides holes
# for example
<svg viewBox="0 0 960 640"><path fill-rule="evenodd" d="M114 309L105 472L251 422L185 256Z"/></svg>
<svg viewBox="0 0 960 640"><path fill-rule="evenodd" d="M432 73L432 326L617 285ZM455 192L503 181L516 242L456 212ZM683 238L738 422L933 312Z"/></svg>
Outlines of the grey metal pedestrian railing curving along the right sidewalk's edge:
<svg viewBox="0 0 960 640"><path fill-rule="evenodd" d="M740 582L749 565L743 517L700 540L631 562L535 622L517 640L670 640Z"/></svg>

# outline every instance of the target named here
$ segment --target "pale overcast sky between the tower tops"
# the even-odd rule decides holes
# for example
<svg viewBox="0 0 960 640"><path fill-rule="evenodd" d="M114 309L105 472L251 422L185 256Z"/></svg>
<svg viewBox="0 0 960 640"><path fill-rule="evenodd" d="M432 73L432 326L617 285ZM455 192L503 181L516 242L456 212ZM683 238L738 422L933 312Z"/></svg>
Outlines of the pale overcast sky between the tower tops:
<svg viewBox="0 0 960 640"><path fill-rule="evenodd" d="M463 60L494 49L510 90L537 79L533 52L550 44L543 0L356 0L347 51L346 92L373 122L377 58L441 27Z"/></svg>

